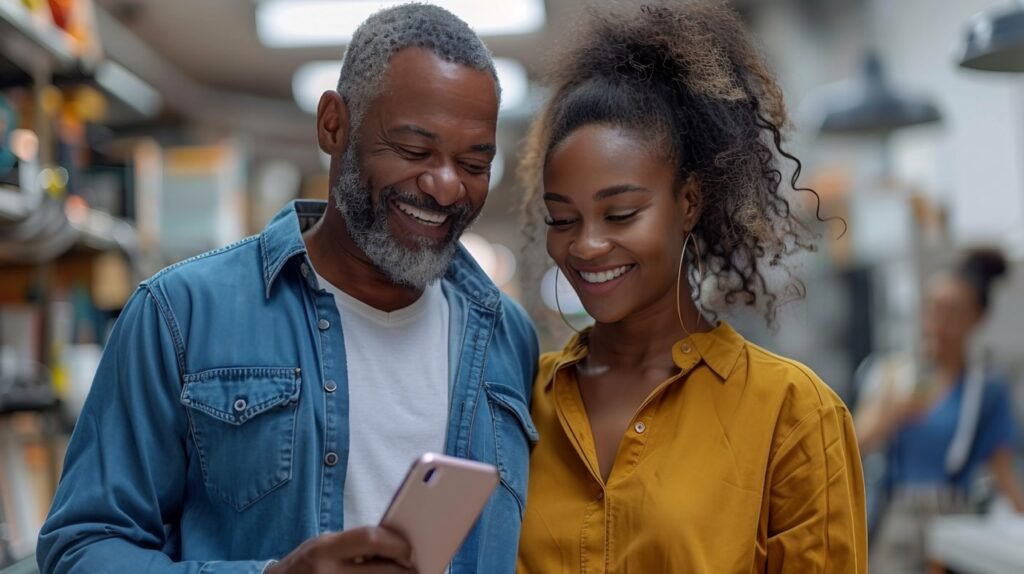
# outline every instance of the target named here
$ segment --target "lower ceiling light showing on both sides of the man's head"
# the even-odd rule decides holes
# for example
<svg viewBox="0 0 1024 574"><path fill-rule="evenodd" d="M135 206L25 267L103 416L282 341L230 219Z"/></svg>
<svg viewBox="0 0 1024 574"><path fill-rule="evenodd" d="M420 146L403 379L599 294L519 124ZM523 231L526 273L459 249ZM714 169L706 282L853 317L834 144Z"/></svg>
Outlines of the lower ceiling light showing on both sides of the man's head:
<svg viewBox="0 0 1024 574"><path fill-rule="evenodd" d="M498 81L502 84L502 109L512 109L526 101L529 80L518 60L495 58ZM316 114L321 95L338 87L341 60L315 60L302 64L292 77L295 103L308 114Z"/></svg>

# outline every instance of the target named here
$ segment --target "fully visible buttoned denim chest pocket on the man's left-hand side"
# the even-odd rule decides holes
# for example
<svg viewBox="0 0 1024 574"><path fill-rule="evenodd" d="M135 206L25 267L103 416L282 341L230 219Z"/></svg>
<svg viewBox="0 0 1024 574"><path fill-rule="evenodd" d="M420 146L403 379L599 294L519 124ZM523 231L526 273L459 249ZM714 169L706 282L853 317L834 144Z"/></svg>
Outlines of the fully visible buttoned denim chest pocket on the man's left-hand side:
<svg viewBox="0 0 1024 574"><path fill-rule="evenodd" d="M229 367L186 374L181 404L212 496L244 511L292 478L299 369Z"/></svg>

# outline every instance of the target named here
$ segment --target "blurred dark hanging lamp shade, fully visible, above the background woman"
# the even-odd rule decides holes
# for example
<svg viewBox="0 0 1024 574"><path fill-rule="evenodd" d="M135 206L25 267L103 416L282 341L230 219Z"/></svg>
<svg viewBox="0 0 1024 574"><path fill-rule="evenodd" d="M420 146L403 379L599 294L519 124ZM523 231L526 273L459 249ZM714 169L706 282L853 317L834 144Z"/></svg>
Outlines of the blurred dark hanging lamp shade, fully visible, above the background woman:
<svg viewBox="0 0 1024 574"><path fill-rule="evenodd" d="M930 100L899 93L889 85L878 54L864 58L863 76L825 102L821 133L884 135L899 128L941 120Z"/></svg>

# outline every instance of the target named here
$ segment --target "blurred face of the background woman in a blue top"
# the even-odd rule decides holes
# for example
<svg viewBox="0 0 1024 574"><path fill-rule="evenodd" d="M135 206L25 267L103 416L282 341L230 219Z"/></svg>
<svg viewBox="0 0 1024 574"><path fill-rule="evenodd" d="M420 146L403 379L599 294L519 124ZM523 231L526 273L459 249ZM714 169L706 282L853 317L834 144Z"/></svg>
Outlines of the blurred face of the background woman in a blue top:
<svg viewBox="0 0 1024 574"><path fill-rule="evenodd" d="M923 336L932 360L957 356L981 316L974 288L959 277L940 275L925 292Z"/></svg>

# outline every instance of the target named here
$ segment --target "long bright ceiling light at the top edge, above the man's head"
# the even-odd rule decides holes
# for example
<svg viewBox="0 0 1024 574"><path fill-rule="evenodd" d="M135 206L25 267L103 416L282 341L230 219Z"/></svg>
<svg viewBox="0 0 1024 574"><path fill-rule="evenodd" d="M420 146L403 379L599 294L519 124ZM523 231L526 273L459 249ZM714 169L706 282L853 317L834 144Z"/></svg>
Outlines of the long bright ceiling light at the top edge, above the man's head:
<svg viewBox="0 0 1024 574"><path fill-rule="evenodd" d="M262 0L260 42L271 48L339 46L371 14L408 0ZM480 36L528 34L544 27L544 0L435 0Z"/></svg>

